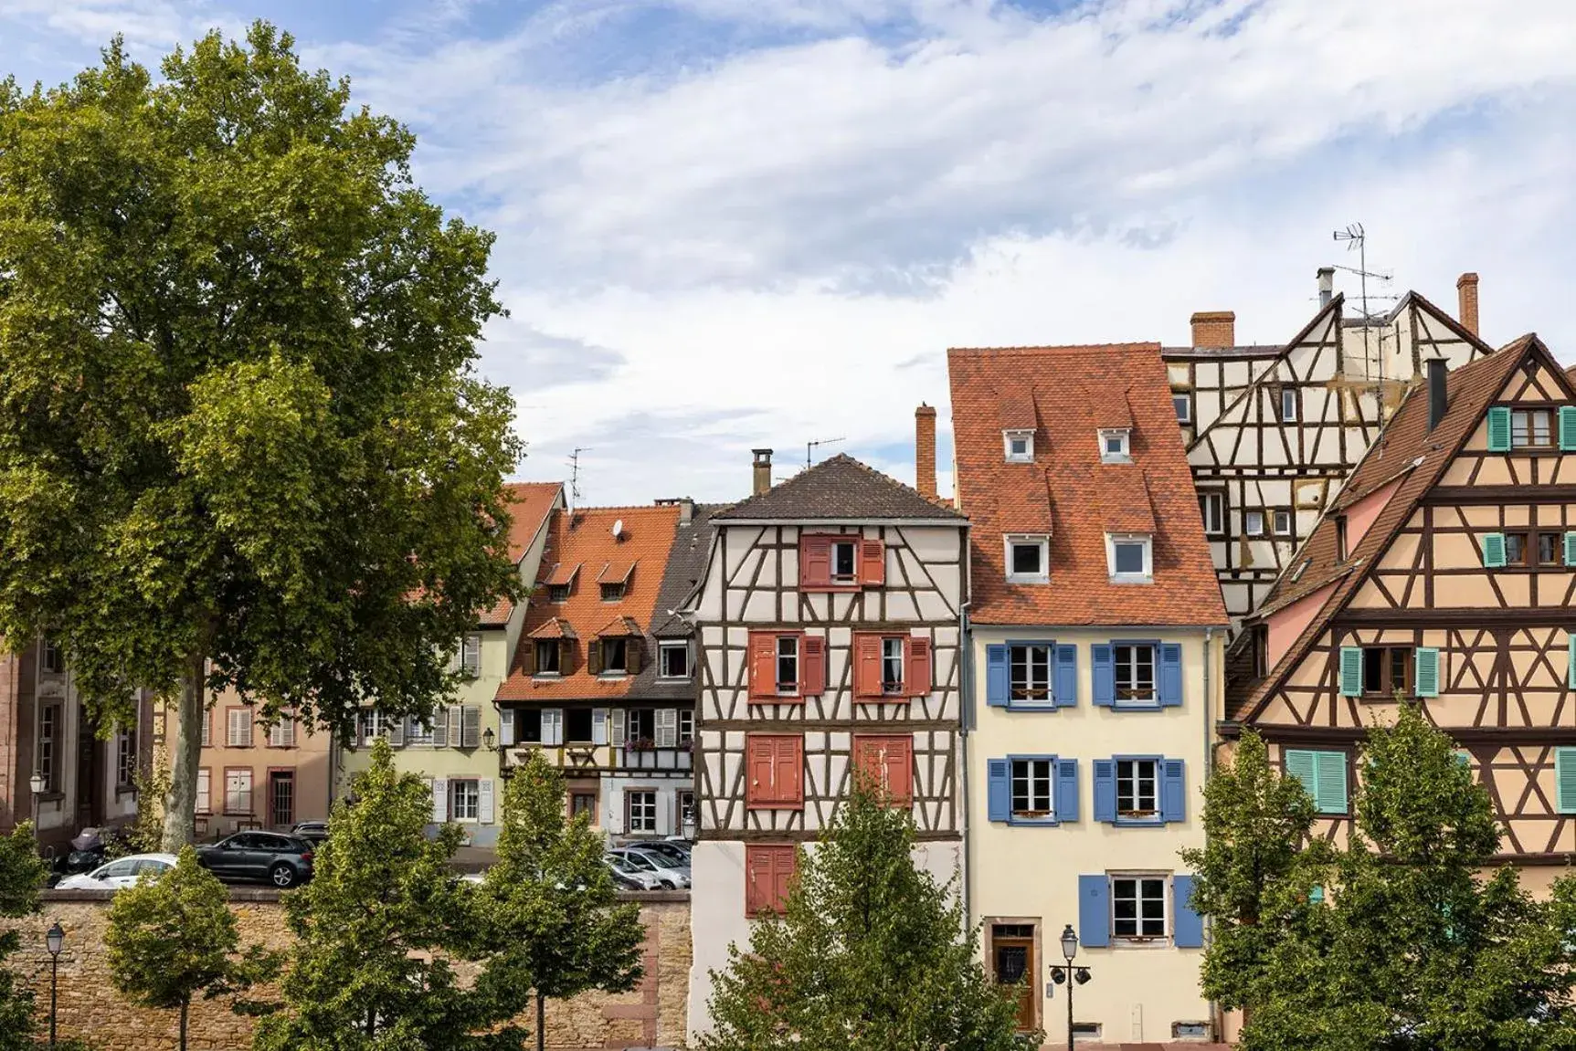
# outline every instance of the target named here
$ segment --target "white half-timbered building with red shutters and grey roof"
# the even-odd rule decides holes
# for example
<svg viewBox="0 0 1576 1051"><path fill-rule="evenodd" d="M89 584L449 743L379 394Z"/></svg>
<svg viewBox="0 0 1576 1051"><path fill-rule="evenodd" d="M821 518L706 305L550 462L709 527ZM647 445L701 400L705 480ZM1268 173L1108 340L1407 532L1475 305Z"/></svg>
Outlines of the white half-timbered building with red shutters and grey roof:
<svg viewBox="0 0 1576 1051"><path fill-rule="evenodd" d="M968 522L837 455L712 517L693 602L700 722L690 1031L711 969L774 909L854 778L909 807L916 862L960 865Z"/></svg>

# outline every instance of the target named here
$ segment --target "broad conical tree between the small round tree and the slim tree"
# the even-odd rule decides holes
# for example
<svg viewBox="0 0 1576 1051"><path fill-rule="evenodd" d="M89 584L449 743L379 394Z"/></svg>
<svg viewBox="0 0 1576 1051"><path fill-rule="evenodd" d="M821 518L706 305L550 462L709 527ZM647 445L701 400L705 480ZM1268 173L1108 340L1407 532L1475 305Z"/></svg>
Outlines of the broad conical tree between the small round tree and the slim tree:
<svg viewBox="0 0 1576 1051"><path fill-rule="evenodd" d="M252 1046L509 1046L482 1032L501 1021L490 993L462 990L454 969L454 960L476 941L470 895L449 867L459 826L427 838L432 789L419 775L396 771L381 739L351 793L355 804L336 804L312 881L285 897L298 939L281 983L285 1010L262 1019Z"/></svg>

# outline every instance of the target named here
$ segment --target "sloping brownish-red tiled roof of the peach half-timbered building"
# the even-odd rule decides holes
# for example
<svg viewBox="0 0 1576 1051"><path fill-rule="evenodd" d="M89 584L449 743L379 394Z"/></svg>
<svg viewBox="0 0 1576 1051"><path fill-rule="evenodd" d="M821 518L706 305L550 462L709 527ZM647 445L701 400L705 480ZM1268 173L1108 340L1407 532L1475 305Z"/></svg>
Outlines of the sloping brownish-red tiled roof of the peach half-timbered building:
<svg viewBox="0 0 1576 1051"><path fill-rule="evenodd" d="M1231 690L1226 698L1226 717L1250 720L1269 695L1280 685L1292 668L1307 655L1308 648L1346 605L1357 586L1366 580L1368 570L1390 547L1396 529L1412 517L1417 501L1428 493L1439 481L1450 460L1455 459L1461 444L1477 429L1489 403L1505 388L1511 370L1521 364L1527 353L1540 353L1548 359L1548 367L1559 372L1559 366L1549 355L1548 347L1537 336L1522 336L1507 344L1504 348L1467 362L1451 372L1445 380L1445 418L1433 430L1428 429L1428 386L1417 384L1407 391L1406 399L1395 416L1385 425L1379 440L1368 448L1362 462L1352 471L1343 488L1341 500L1325 512L1314 526L1307 544L1299 548L1280 580L1270 589L1256 616L1273 613L1311 596L1329 585L1336 585L1319 611L1303 629L1302 635L1288 648L1281 659L1270 668L1270 673L1258 682L1247 684L1247 689ZM1420 462L1418 462L1420 460ZM1352 501L1374 493L1390 482L1401 479L1395 493L1385 501L1384 509L1363 534L1362 540L1351 550L1346 559L1338 558L1336 520L1340 507L1351 506ZM1349 495L1349 496L1347 496ZM1307 569L1297 574L1297 567L1307 563ZM1292 575L1297 580L1292 580Z"/></svg>

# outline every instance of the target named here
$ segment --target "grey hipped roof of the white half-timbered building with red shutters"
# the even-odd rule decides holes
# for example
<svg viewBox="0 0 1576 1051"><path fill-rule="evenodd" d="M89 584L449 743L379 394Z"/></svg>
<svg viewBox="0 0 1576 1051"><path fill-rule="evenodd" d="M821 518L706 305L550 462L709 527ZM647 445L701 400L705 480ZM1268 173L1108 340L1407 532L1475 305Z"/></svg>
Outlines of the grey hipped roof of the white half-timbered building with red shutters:
<svg viewBox="0 0 1576 1051"><path fill-rule="evenodd" d="M821 460L786 482L714 515L719 525L761 518L782 522L935 518L957 523L965 520L952 507L925 500L919 490L846 454Z"/></svg>

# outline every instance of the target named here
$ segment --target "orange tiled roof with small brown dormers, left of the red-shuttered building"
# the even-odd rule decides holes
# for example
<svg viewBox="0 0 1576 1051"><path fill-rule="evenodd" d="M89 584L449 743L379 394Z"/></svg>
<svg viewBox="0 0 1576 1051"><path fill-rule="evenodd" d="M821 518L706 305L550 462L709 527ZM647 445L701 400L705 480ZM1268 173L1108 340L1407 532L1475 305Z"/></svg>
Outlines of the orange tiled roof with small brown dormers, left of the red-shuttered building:
<svg viewBox="0 0 1576 1051"><path fill-rule="evenodd" d="M613 523L623 522L619 536L613 536ZM542 555L541 580L525 613L522 646L534 646L539 629L550 621L563 621L563 637L589 640L613 618L630 618L637 626L649 624L651 613L662 588L663 569L673 548L679 525L679 509L675 504L657 507L582 507L556 511L548 523L547 551ZM553 575L555 566L607 566L610 563L637 564L624 586L624 597L602 602L602 588L589 574L577 575L569 589L567 602L547 602L544 581ZM567 627L566 627L567 626ZM635 629L638 633L638 627ZM574 635L571 635L574 632ZM552 635L548 635L552 637ZM555 679L534 679L520 671L520 655L515 651L514 670L498 689L500 701L563 701L575 698L608 698L629 693L635 676L600 678L586 673L585 641L575 646L574 667ZM648 660L656 659L656 648L648 646Z"/></svg>

